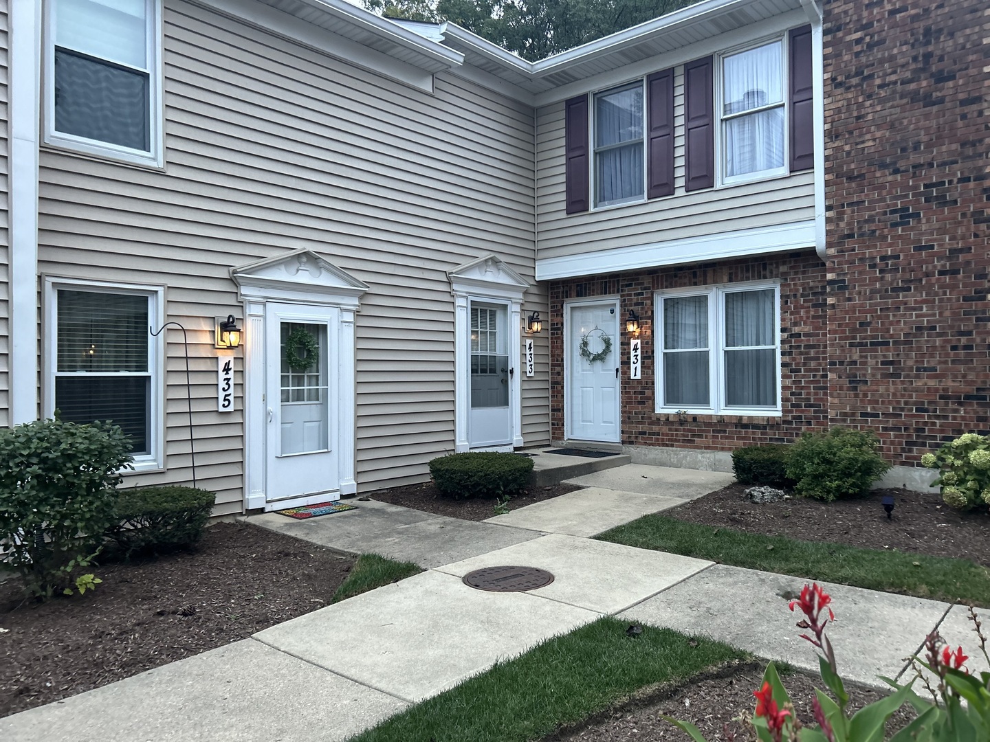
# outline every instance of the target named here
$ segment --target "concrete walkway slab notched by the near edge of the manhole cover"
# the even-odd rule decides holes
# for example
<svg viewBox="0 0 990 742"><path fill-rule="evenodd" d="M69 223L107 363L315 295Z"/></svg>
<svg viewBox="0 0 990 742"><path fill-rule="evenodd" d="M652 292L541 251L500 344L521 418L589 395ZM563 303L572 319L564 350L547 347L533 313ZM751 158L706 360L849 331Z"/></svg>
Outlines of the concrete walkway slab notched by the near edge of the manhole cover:
<svg viewBox="0 0 990 742"><path fill-rule="evenodd" d="M418 701L598 617L525 593L474 590L431 571L255 637L358 683Z"/></svg>

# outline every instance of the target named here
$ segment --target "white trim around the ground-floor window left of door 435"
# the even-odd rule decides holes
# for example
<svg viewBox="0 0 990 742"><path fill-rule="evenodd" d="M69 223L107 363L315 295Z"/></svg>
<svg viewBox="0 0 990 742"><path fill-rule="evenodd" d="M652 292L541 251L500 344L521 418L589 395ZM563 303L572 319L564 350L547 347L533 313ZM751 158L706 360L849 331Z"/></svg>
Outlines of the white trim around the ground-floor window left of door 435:
<svg viewBox="0 0 990 742"><path fill-rule="evenodd" d="M44 295L44 344L42 373L42 414L51 417L55 407L55 358L58 348L58 290L92 291L94 293L134 294L146 296L148 302L148 323L158 327L163 322L165 310L165 291L161 286L144 286L135 284L107 283L103 281L83 281L69 278L45 278ZM151 374L150 392L150 453L135 456L134 472L160 471L165 468L164 461L164 409L165 409L165 368L164 368L164 333L157 337L148 335L148 370ZM130 469L123 474L130 473Z"/></svg>

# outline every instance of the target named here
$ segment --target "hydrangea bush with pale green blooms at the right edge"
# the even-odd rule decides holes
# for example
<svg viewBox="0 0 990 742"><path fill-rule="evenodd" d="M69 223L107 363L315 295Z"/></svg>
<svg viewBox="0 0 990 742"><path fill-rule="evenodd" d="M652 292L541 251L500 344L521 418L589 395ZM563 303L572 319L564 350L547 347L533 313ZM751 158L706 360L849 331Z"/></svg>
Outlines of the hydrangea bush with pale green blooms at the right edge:
<svg viewBox="0 0 990 742"><path fill-rule="evenodd" d="M990 435L964 433L926 453L922 464L939 470L932 486L941 488L946 505L959 510L990 506Z"/></svg>

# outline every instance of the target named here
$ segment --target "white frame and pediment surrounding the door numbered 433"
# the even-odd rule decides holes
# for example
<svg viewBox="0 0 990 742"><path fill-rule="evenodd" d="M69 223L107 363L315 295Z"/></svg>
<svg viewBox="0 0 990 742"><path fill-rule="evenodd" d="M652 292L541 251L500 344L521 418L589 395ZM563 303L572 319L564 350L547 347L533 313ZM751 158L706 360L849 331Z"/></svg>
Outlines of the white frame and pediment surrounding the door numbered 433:
<svg viewBox="0 0 990 742"><path fill-rule="evenodd" d="M453 295L453 398L454 452L471 448L469 417L471 404L470 303L504 304L509 308L509 362L515 372L509 378L511 444L489 450L511 451L523 445L522 424L522 311L523 293L530 287L518 273L495 255L485 255L447 272Z"/></svg>

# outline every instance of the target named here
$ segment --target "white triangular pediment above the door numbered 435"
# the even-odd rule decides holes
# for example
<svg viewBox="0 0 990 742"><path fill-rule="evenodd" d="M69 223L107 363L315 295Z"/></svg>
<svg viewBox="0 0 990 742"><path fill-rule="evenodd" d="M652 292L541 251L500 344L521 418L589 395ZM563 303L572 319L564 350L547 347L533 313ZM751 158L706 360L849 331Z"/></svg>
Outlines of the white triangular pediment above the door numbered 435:
<svg viewBox="0 0 990 742"><path fill-rule="evenodd" d="M306 247L231 268L242 299L356 304L367 284Z"/></svg>

